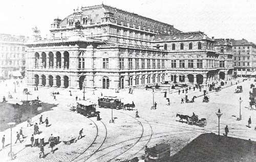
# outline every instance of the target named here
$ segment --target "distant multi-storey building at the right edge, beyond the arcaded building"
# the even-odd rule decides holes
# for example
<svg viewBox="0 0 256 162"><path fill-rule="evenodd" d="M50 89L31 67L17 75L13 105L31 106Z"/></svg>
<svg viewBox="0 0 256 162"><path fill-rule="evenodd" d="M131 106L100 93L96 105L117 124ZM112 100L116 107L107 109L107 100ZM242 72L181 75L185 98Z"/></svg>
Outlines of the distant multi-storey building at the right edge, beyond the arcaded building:
<svg viewBox="0 0 256 162"><path fill-rule="evenodd" d="M234 53L234 74L237 76L250 76L256 68L256 45L246 39L234 40L232 51Z"/></svg>

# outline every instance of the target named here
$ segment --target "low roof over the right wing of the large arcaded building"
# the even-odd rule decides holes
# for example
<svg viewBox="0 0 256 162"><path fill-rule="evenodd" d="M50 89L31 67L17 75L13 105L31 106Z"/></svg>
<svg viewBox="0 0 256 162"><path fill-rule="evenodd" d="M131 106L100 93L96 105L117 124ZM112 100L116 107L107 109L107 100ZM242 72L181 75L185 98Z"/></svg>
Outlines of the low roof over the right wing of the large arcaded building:
<svg viewBox="0 0 256 162"><path fill-rule="evenodd" d="M181 32L175 34L161 34L154 37L154 41L161 40L190 40L190 39L210 39L203 32Z"/></svg>

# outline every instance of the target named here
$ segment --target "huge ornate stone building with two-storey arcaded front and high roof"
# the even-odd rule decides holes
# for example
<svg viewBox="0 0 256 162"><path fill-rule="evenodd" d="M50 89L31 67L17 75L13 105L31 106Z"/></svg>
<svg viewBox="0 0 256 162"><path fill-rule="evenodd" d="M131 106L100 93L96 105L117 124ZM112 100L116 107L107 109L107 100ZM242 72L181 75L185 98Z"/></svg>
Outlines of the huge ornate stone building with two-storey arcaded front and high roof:
<svg viewBox="0 0 256 162"><path fill-rule="evenodd" d="M125 88L166 80L203 84L220 77L214 38L111 6L76 9L54 19L50 32L42 39L34 31L27 43L29 85ZM223 54L228 61L230 56Z"/></svg>

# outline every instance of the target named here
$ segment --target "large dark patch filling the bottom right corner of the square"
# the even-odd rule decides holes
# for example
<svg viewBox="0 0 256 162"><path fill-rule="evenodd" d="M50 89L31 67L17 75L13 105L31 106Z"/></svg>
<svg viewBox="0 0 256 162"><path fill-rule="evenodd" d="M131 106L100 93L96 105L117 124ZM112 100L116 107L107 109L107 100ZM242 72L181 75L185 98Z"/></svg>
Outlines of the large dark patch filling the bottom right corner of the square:
<svg viewBox="0 0 256 162"><path fill-rule="evenodd" d="M256 161L256 142L204 133L169 161Z"/></svg>

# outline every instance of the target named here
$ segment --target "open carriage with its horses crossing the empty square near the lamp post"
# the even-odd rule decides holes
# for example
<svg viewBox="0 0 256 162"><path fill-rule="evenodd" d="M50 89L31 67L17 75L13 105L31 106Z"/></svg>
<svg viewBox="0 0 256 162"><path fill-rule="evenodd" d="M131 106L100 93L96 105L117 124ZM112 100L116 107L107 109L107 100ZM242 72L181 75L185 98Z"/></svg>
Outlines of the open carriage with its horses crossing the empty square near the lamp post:
<svg viewBox="0 0 256 162"><path fill-rule="evenodd" d="M195 115L194 113L191 117L189 117L188 115L182 115L182 114L177 113L176 117L180 118L179 122L183 122L183 119L184 119L184 120L186 120L186 123L188 123L189 125L197 125L199 127L204 127L207 124L205 118L201 118L199 120L198 115Z"/></svg>

